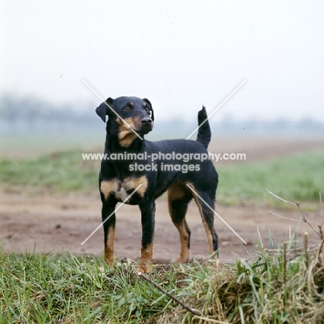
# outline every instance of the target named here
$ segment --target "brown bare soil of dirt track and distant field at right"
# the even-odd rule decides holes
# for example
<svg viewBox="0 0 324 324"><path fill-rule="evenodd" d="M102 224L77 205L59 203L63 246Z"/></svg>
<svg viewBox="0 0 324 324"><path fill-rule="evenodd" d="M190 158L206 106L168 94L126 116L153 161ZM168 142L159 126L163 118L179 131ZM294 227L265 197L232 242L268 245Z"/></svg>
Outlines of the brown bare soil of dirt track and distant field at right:
<svg viewBox="0 0 324 324"><path fill-rule="evenodd" d="M235 146L236 145L236 146ZM246 152L249 160L269 159L300 150L312 149L323 145L323 140L306 138L304 140L267 138L263 141L240 142L228 139L227 145L213 143L213 152ZM211 151L211 150L210 150ZM249 153L249 154L248 154ZM250 156L250 158L249 158ZM24 191L25 190L25 191ZM1 190L0 205L0 244L4 251L60 253L69 249L73 253L99 255L103 250L103 231L100 226L101 202L99 193L87 194L48 194L30 195L26 188L20 192ZM216 210L224 220L244 239L244 244L220 219L215 217L215 229L219 235L219 257L222 262L235 262L235 258L250 258L253 242L259 240L259 234L265 247L269 247L269 230L274 244L289 239L297 222L280 219L269 213L268 206L222 206ZM273 208L271 209L273 210ZM298 220L298 210L274 212ZM138 260L141 256L141 215L137 206L122 206L117 214L116 257ZM307 213L312 224L323 223L320 210ZM192 231L190 259L206 260L208 242L198 208L190 204L187 215ZM91 233L98 231L91 237ZM298 245L303 244L303 233L310 233L309 244L317 244L318 238L307 224L298 228ZM82 242L87 239L82 245ZM249 251L248 252L246 252ZM168 215L168 203L164 197L156 201L156 228L154 238L154 262L170 262L179 256L180 241L177 229Z"/></svg>

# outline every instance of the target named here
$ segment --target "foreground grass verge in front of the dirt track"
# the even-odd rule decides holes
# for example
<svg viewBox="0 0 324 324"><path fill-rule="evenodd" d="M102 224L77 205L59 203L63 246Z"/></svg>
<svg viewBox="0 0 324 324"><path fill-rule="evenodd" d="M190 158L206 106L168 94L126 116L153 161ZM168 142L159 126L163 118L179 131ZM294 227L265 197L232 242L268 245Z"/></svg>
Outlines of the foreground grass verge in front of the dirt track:
<svg viewBox="0 0 324 324"><path fill-rule="evenodd" d="M0 252L0 323L323 323L323 253L294 239L269 250L260 240L256 257L237 264L155 265L151 280L199 315L131 262Z"/></svg>

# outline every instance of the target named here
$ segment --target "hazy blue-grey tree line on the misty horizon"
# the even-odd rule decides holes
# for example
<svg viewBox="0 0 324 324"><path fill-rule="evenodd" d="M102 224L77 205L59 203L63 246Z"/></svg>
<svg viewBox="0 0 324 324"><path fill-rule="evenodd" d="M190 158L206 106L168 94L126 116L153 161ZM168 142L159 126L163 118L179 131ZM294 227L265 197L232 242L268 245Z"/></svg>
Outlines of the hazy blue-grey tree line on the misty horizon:
<svg viewBox="0 0 324 324"><path fill-rule="evenodd" d="M81 107L80 107L81 105ZM51 102L35 98L33 96L17 97L6 94L0 98L0 132L87 132L101 129L101 120L98 120L94 109L96 103L83 102L73 105L66 103L55 105ZM195 122L184 122L180 128L195 127ZM287 119L278 118L271 121L245 120L235 121L228 116L222 122L210 121L214 132L219 133L312 133L324 134L324 124L312 118L304 118L298 122L290 122ZM179 130L176 121L161 121L156 123L158 132L172 132ZM160 131L159 131L160 129Z"/></svg>

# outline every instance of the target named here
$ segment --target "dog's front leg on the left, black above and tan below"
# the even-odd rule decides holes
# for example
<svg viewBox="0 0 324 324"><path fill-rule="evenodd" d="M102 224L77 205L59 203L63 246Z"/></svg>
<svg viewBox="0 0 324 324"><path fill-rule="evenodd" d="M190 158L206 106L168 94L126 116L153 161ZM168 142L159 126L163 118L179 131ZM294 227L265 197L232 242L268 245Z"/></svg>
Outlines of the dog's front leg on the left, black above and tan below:
<svg viewBox="0 0 324 324"><path fill-rule="evenodd" d="M105 262L114 267L114 240L116 215L114 213L116 203L104 201L102 203L102 223L105 232ZM110 216L110 217L109 217ZM108 218L109 217L109 218Z"/></svg>

